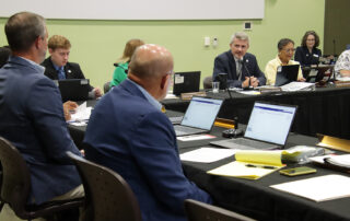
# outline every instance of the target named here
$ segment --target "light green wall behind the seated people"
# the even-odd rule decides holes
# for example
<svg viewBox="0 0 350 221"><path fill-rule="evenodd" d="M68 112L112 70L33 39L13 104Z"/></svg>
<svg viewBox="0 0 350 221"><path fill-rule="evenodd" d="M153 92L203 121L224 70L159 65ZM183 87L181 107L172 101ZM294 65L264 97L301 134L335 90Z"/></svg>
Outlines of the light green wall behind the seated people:
<svg viewBox="0 0 350 221"><path fill-rule="evenodd" d="M77 12L79 13L79 12ZM116 10L118 13L118 10ZM265 19L253 21L249 51L257 56L264 71L277 55L277 43L292 38L296 46L305 31L314 30L324 39L325 0L266 0ZM67 36L72 44L70 61L79 62L94 86L103 88L114 71L113 63L121 55L125 43L141 38L163 45L174 56L175 71L200 70L211 75L214 57L229 49L234 32L244 21L72 21L48 20L49 35ZM0 19L3 30L5 19ZM205 47L203 38L218 37L218 47ZM5 45L3 31L0 45Z"/></svg>

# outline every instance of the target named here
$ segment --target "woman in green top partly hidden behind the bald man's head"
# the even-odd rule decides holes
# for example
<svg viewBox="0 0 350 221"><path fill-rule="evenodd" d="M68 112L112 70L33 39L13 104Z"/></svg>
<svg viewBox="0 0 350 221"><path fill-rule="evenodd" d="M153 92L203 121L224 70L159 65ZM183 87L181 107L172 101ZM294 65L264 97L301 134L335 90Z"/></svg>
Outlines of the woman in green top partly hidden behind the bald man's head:
<svg viewBox="0 0 350 221"><path fill-rule="evenodd" d="M121 58L119 58L114 66L116 69L113 73L113 80L110 81L109 88L119 85L128 75L128 66L135 49L141 45L144 45L141 39L130 39L127 42L124 48Z"/></svg>

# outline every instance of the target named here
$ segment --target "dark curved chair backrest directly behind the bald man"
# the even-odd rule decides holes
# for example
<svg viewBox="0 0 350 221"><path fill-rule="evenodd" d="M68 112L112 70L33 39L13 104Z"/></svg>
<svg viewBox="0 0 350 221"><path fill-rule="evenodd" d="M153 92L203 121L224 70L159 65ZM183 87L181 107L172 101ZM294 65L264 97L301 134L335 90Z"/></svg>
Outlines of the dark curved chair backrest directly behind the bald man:
<svg viewBox="0 0 350 221"><path fill-rule="evenodd" d="M141 221L139 203L126 181L116 172L67 152L85 189L84 220Z"/></svg>

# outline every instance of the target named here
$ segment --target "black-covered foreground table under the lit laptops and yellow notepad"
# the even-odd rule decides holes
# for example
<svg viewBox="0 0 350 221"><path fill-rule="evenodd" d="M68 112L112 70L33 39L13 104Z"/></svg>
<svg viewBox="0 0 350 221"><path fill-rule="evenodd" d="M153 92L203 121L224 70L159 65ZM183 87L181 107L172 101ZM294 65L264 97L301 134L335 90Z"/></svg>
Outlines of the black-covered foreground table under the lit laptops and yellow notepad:
<svg viewBox="0 0 350 221"><path fill-rule="evenodd" d="M167 112L168 116L176 116L177 112ZM241 125L242 127L242 125ZM75 143L80 143L84 136L85 126L69 126L69 130ZM180 153L196 150L200 147L208 147L210 141L222 140L222 131L225 128L213 127L212 139L180 141L177 140ZM317 139L291 132L285 148L296 144L315 146ZM234 178L228 176L215 176L207 174L207 171L232 162L234 156L226 158L214 163L192 163L183 161L183 168L186 176L195 182L199 187L206 189L213 198L214 203L252 217L257 220L350 220L350 198L341 198L323 202L315 202L287 193L282 193L269 187L270 185L284 182L298 181L302 178L316 177L327 174L342 174L341 172L329 168L316 167L316 174L303 175L298 177L287 177L273 172L257 181ZM296 165L289 164L288 167ZM327 189L325 189L327 190Z"/></svg>

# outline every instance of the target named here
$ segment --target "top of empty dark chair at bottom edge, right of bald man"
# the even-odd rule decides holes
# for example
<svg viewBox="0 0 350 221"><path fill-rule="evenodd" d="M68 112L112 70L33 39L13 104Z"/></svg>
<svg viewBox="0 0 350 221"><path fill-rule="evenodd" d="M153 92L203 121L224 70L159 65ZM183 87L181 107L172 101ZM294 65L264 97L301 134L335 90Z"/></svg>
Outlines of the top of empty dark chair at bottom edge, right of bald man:
<svg viewBox="0 0 350 221"><path fill-rule="evenodd" d="M185 200L185 210L188 221L254 221L245 216L194 199Z"/></svg>

